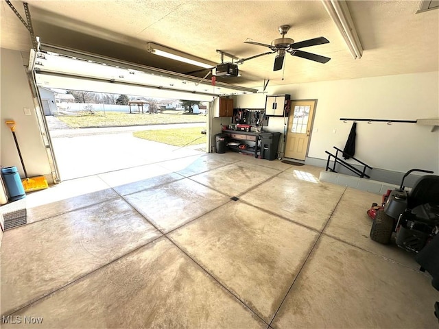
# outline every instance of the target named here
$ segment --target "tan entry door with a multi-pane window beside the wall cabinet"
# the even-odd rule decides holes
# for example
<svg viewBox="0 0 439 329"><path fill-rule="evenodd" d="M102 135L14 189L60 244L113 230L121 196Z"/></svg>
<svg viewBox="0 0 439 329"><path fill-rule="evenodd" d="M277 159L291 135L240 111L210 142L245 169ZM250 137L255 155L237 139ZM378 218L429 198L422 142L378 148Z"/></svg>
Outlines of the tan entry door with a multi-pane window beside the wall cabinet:
<svg viewBox="0 0 439 329"><path fill-rule="evenodd" d="M305 160L316 101L292 101L289 111L285 158Z"/></svg>

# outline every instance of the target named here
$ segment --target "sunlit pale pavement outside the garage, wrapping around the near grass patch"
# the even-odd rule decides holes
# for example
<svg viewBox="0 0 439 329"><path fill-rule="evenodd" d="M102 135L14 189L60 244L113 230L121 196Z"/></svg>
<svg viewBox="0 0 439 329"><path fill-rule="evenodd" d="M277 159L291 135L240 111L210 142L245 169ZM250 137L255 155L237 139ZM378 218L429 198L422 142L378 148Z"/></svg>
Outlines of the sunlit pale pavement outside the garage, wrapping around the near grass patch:
<svg viewBox="0 0 439 329"><path fill-rule="evenodd" d="M175 147L134 137L132 132L200 127L201 133L205 123L66 129L56 120L51 117L47 121L61 180L204 153L200 149L205 145Z"/></svg>

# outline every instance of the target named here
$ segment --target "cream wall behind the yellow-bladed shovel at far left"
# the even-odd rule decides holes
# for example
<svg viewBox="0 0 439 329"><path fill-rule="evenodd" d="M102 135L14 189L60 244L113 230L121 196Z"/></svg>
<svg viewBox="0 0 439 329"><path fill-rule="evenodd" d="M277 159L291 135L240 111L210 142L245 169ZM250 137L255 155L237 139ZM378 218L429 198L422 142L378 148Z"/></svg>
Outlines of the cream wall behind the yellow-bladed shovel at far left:
<svg viewBox="0 0 439 329"><path fill-rule="evenodd" d="M26 58L27 55L23 54ZM0 50L1 78L1 166L16 166L21 177L24 171L16 151L12 132L5 125L5 120L16 122L16 138L29 176L49 175L50 166L40 134L34 100L27 80L25 64L20 51ZM30 109L25 115L24 108Z"/></svg>

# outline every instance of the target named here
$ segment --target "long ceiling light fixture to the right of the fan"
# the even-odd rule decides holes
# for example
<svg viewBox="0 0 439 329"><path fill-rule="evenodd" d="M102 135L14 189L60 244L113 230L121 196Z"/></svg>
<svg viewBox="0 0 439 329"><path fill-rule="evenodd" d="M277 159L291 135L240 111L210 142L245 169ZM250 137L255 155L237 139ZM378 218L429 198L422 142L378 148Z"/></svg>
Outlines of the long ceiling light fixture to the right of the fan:
<svg viewBox="0 0 439 329"><path fill-rule="evenodd" d="M361 58L363 55L363 47L359 42L357 31L352 21L351 13L348 5L344 0L322 0L324 8L326 8L329 16L334 21L335 26L342 34L346 45L354 59Z"/></svg>

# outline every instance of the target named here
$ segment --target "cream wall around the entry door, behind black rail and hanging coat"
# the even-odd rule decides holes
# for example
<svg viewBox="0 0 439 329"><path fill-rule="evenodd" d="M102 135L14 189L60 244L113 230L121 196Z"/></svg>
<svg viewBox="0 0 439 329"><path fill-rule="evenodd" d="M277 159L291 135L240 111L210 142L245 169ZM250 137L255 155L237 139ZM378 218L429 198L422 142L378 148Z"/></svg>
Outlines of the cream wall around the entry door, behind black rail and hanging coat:
<svg viewBox="0 0 439 329"><path fill-rule="evenodd" d="M327 158L325 150L344 148L353 121L340 118L416 120L439 117L438 72L292 84L268 94L317 99L308 156ZM268 130L283 132L283 118L271 117ZM334 150L335 151L335 150ZM355 157L371 167L439 173L439 131L414 123L357 123ZM352 162L349 160L348 162Z"/></svg>

